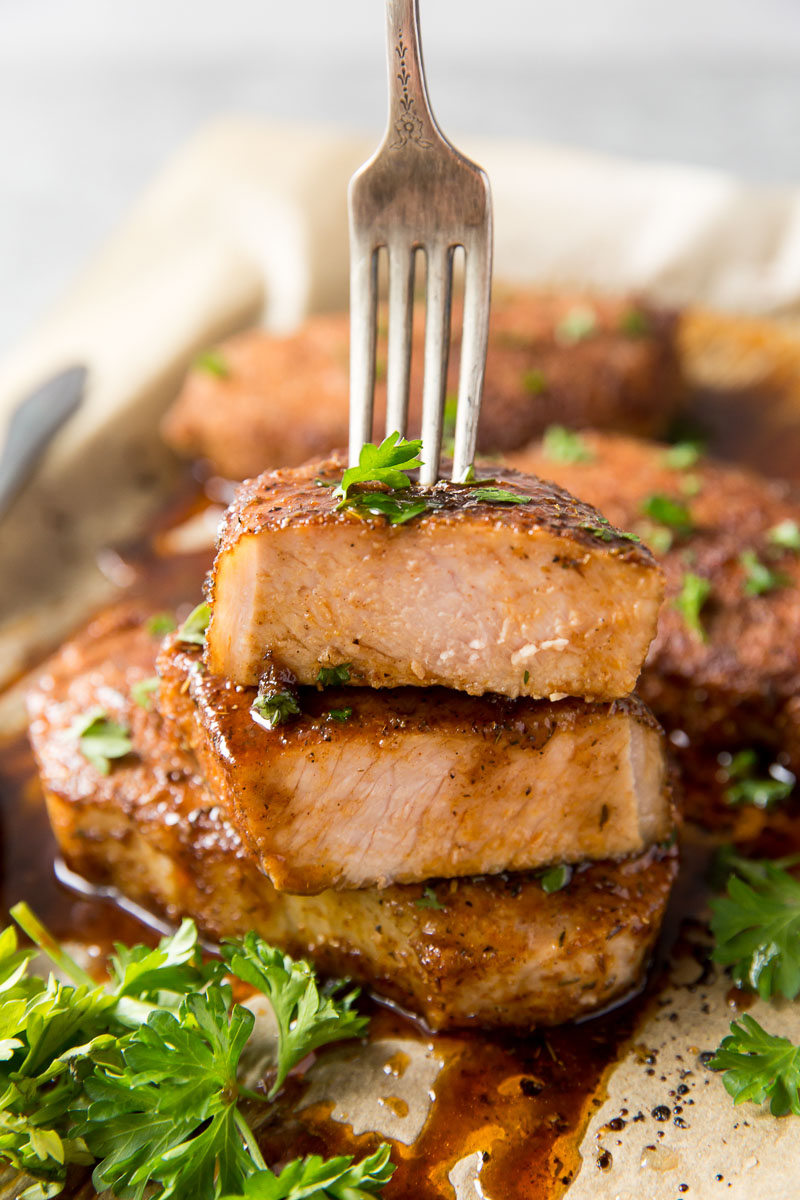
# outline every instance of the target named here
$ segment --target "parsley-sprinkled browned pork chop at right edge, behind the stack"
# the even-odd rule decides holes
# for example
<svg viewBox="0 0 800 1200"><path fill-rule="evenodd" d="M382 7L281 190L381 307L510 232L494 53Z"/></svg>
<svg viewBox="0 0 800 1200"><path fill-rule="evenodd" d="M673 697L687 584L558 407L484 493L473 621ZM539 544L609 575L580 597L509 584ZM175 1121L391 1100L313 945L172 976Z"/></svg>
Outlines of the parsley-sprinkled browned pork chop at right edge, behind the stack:
<svg viewBox="0 0 800 1200"><path fill-rule="evenodd" d="M547 443L510 461L570 488L656 552L667 602L640 695L694 745L782 751L798 773L800 493L651 442L584 433L582 444L582 461L554 458Z"/></svg>

